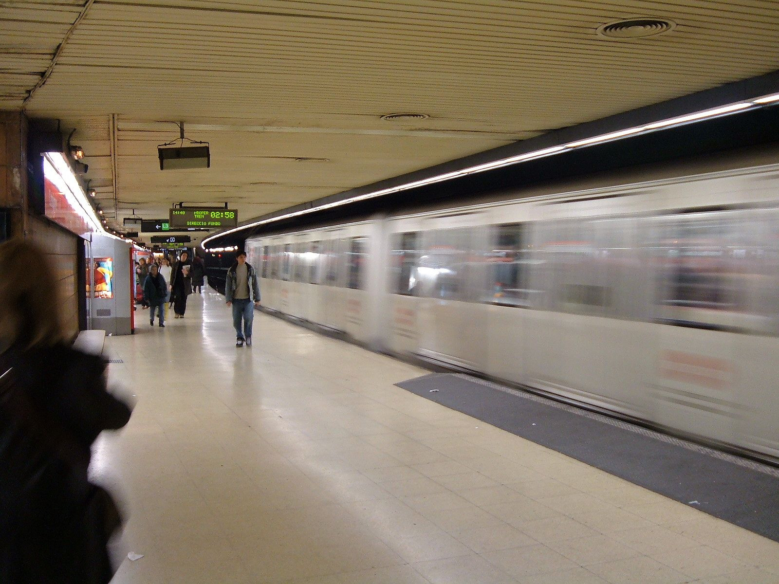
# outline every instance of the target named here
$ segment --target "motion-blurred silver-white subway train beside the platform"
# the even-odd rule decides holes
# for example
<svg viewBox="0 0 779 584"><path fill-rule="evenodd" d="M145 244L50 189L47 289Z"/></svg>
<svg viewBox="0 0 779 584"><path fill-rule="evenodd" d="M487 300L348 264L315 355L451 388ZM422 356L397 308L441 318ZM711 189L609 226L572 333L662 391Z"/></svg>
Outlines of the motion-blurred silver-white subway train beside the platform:
<svg viewBox="0 0 779 584"><path fill-rule="evenodd" d="M245 245L270 311L779 460L779 164Z"/></svg>

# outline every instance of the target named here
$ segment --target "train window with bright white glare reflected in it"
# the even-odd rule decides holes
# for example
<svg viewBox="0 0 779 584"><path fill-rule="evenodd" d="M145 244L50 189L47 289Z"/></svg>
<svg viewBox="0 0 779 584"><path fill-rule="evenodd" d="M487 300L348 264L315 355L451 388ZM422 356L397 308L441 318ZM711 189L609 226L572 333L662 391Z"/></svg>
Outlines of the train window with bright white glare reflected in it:
<svg viewBox="0 0 779 584"><path fill-rule="evenodd" d="M469 276L477 268L471 249L471 229L435 230L431 236L430 249L420 256L412 276L420 294L446 300L469 300Z"/></svg>

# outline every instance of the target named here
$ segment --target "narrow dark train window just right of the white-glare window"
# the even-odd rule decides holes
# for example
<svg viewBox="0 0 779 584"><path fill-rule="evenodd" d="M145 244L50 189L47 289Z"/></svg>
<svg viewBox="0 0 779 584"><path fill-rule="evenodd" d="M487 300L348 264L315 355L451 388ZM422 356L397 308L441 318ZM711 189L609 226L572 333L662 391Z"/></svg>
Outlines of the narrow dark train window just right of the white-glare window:
<svg viewBox="0 0 779 584"><path fill-rule="evenodd" d="M533 263L532 246L520 223L498 225L492 249L485 253L486 290L481 301L505 306L530 306L527 271Z"/></svg>

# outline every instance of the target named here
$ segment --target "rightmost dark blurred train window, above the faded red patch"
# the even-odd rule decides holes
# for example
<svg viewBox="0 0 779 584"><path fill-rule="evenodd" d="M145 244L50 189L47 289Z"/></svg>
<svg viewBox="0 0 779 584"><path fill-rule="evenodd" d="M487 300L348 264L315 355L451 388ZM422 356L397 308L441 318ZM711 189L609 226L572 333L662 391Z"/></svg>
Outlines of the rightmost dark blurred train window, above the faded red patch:
<svg viewBox="0 0 779 584"><path fill-rule="evenodd" d="M747 297L762 254L742 211L662 217L651 246L661 322L729 329L747 325Z"/></svg>

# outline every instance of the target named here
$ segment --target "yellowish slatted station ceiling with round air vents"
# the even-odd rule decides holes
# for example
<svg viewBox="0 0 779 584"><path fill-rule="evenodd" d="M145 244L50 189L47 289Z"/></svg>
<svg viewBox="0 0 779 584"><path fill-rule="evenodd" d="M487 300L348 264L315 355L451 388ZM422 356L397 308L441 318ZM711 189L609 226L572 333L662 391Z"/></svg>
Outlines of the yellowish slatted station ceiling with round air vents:
<svg viewBox="0 0 779 584"><path fill-rule="evenodd" d="M622 19L670 30L597 32ZM5 1L0 23L0 109L76 128L117 227L175 202L249 219L770 72L779 55L774 0ZM210 169L160 171L178 121L210 142Z"/></svg>

